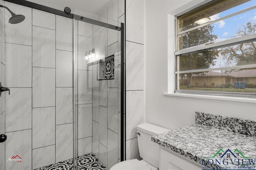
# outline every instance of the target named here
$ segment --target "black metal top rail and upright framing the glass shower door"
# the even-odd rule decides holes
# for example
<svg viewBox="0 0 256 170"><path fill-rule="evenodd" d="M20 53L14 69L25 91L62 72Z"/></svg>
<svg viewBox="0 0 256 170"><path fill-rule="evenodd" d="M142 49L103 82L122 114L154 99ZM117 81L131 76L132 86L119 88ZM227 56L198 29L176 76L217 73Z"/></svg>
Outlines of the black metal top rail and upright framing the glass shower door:
<svg viewBox="0 0 256 170"><path fill-rule="evenodd" d="M21 6L26 6L26 7L37 9L37 10L41 10L41 11L44 11L44 12L49 12L49 13L56 14L56 15L59 15L59 16L64 16L64 17L67 17L67 18L79 20L79 21L82 21L82 22L87 22L87 23L90 23L90 24L102 26L102 27L105 27L105 28L109 28L109 29L121 32L121 107L120 107L120 111L121 111L121 155L120 155L120 159L121 159L121 161L125 160L125 157L126 157L125 156L125 150L126 150L125 122L126 122L126 120L125 120L124 113L125 113L125 109L126 109L126 86L125 86L125 64L124 64L124 59L125 59L125 53L124 53L124 45L125 45L124 23L121 23L121 27L114 26L114 25L111 25L111 24L107 24L105 22L100 22L98 20L93 20L93 19L90 19L90 18L86 18L84 16L79 16L79 15L72 14L72 13L68 14L64 11L57 10L57 9L54 9L54 8L50 8L50 7L44 6L44 5L36 4L34 2L30 2L30 1L26 1L26 0L4 0L4 1L11 2L11 3L14 3L14 4L18 4L18 5L21 5ZM73 29L74 29L74 26L73 26ZM74 34L74 30L73 30L73 34ZM73 56L74 56L73 57L73 70L75 68L74 67L75 66L75 63L74 63L74 61L75 61L74 60L75 59L74 45L75 45L75 43L74 43L74 38L73 38ZM73 72L73 76L74 75L76 75L75 72ZM73 80L74 80L74 77L73 77ZM73 83L74 83L74 81L73 81ZM75 84L73 84L73 91L76 90L75 89L76 87L74 85ZM73 115L75 115L75 111L77 109L76 105L74 103L75 102L75 97L76 97L76 93L73 94L73 98L74 98L74 100L73 100ZM75 127L74 120L73 120L73 124L74 124L73 127ZM73 128L73 129L75 130L75 128ZM73 135L75 133L76 132L74 132ZM74 140L75 140L75 138L74 138ZM75 151L73 150L73 152L75 152Z"/></svg>

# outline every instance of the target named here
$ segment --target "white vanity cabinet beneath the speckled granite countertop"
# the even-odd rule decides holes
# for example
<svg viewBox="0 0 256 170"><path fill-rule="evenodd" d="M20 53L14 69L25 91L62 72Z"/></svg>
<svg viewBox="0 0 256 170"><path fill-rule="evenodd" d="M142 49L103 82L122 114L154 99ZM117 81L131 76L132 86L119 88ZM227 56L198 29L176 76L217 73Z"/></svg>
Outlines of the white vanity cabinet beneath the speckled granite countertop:
<svg viewBox="0 0 256 170"><path fill-rule="evenodd" d="M159 147L159 170L202 170L200 164L192 163L181 155L164 148Z"/></svg>

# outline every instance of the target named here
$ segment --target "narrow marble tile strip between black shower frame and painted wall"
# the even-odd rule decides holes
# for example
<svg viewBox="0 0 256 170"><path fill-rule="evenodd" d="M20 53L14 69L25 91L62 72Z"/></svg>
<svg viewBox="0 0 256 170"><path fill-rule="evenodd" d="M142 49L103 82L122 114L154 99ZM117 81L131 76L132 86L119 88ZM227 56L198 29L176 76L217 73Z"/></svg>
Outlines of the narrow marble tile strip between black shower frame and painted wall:
<svg viewBox="0 0 256 170"><path fill-rule="evenodd" d="M137 125L144 112L144 0L126 0L126 160L138 158Z"/></svg>

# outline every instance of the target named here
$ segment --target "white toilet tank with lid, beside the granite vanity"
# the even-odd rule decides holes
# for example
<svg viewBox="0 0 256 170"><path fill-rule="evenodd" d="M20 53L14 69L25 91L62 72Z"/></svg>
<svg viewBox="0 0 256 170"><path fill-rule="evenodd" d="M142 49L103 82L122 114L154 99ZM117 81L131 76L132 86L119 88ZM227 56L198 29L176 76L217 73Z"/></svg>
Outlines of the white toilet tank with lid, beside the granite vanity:
<svg viewBox="0 0 256 170"><path fill-rule="evenodd" d="M159 144L151 141L151 136L170 131L169 129L143 123L137 126L140 157L159 168Z"/></svg>

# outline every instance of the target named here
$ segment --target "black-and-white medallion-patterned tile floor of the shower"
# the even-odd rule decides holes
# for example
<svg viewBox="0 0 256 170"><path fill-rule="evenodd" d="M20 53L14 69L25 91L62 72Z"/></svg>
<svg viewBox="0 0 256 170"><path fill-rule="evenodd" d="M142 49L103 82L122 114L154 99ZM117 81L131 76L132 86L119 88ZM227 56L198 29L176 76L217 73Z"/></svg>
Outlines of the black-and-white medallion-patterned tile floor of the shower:
<svg viewBox="0 0 256 170"><path fill-rule="evenodd" d="M64 160L35 170L73 170L73 159ZM78 170L108 170L92 153L78 157Z"/></svg>

